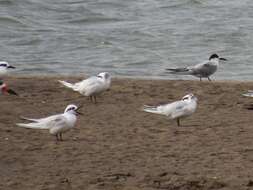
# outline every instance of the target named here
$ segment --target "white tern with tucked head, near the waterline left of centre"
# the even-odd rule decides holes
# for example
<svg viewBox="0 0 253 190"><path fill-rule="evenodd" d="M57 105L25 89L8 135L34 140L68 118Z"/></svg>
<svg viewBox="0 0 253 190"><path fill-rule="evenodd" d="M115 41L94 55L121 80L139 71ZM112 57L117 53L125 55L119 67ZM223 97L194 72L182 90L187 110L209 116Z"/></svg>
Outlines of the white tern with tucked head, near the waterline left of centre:
<svg viewBox="0 0 253 190"><path fill-rule="evenodd" d="M90 100L97 102L97 95L108 90L111 86L111 76L109 73L99 73L97 76L89 77L83 81L71 84L66 81L59 80L64 86L79 92L84 96L89 96Z"/></svg>

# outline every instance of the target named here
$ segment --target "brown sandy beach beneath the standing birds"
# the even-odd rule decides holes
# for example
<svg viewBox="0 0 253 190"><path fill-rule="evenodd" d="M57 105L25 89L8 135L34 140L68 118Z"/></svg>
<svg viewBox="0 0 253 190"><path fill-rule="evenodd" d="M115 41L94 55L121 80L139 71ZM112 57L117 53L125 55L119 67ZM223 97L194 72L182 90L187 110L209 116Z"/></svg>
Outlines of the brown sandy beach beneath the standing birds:
<svg viewBox="0 0 253 190"><path fill-rule="evenodd" d="M62 77L69 81L78 78ZM53 77L6 80L0 96L0 189L195 190L253 188L253 82L114 79L93 104ZM197 112L182 127L140 111L193 92ZM46 130L15 126L84 104L76 127L56 142Z"/></svg>

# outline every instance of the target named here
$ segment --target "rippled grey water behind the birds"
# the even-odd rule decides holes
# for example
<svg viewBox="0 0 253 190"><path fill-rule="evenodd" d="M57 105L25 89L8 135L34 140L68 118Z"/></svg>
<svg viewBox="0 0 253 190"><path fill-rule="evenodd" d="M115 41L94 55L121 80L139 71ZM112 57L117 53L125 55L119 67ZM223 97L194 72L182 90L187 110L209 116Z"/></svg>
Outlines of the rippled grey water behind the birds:
<svg viewBox="0 0 253 190"><path fill-rule="evenodd" d="M0 0L0 52L17 74L161 79L218 53L214 78L253 80L253 1Z"/></svg>

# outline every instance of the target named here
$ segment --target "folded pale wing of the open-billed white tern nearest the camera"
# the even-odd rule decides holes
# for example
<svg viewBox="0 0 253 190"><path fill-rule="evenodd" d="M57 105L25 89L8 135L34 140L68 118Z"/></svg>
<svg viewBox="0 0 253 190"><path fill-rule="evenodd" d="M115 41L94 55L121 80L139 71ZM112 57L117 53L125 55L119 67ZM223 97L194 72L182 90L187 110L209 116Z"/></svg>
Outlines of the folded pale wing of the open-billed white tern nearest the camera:
<svg viewBox="0 0 253 190"><path fill-rule="evenodd" d="M26 118L28 119L28 118ZM33 123L17 123L19 127L32 128L32 129L50 129L54 126L61 125L62 122L66 122L66 118L60 115L54 115L42 119L28 119L34 121Z"/></svg>

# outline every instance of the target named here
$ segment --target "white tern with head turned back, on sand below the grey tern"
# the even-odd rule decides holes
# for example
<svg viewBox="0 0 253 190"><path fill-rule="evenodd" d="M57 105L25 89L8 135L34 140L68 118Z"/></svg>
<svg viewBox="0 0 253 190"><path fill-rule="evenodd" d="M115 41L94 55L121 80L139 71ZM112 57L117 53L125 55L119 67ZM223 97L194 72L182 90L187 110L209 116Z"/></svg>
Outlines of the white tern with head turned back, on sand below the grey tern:
<svg viewBox="0 0 253 190"><path fill-rule="evenodd" d="M197 97L193 94L185 95L181 100L159 106L144 105L143 111L166 115L170 119L177 119L180 126L180 119L192 115L197 108Z"/></svg>

